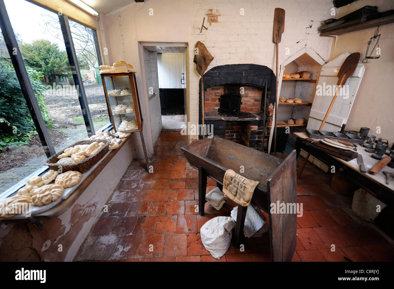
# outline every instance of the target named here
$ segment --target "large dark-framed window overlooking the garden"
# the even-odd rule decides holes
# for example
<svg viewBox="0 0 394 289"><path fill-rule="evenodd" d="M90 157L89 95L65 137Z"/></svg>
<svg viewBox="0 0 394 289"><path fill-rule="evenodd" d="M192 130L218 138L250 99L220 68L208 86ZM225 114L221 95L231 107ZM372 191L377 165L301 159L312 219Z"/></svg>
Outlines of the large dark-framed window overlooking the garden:
<svg viewBox="0 0 394 289"><path fill-rule="evenodd" d="M58 14L25 0L4 2L45 121L46 143L59 151L86 139L90 125L85 125ZM88 101L85 103L82 99L82 106L86 107L85 116L89 109L92 110L93 126L97 131L110 120L96 70L99 66L95 52L96 32L72 20L67 23L81 64L83 87L87 91ZM41 145L43 137L40 139L37 135L39 128L36 129L32 121L3 37L0 38L0 69L4 70L0 72L0 195L6 197L4 191L11 190L20 180L43 168L48 151L45 153Z"/></svg>

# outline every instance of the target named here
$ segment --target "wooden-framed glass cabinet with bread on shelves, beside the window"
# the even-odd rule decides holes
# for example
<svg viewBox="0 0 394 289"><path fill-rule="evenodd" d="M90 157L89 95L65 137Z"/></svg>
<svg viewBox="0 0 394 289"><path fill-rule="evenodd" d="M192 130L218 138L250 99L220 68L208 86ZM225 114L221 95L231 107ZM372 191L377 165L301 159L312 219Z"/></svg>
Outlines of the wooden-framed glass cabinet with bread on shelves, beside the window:
<svg viewBox="0 0 394 289"><path fill-rule="evenodd" d="M115 133L142 131L135 72L101 74L101 79Z"/></svg>

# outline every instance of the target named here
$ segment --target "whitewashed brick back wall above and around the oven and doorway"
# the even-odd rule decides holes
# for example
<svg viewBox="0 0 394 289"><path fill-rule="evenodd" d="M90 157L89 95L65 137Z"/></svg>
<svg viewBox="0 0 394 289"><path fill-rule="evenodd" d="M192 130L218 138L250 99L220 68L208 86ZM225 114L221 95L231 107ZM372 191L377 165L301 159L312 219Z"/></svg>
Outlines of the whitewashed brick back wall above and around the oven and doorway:
<svg viewBox="0 0 394 289"><path fill-rule="evenodd" d="M285 28L279 45L279 63L302 48L311 48L328 60L331 37L320 37L320 22L332 18L332 0L149 0L134 3L106 15L113 59L124 59L138 67L138 41L186 42L189 45L191 123L198 123L199 79L193 63L194 46L202 41L214 56L208 69L222 64L255 63L275 71L272 41L275 7L286 11ZM219 23L200 33L207 9L217 9ZM240 15L242 10L244 16ZM151 15L150 15L151 14ZM153 15L152 15L153 14ZM141 74L137 74L142 85ZM146 97L147 96L141 96ZM147 102L148 103L148 102ZM149 114L147 107L142 107ZM197 136L191 136L196 140ZM152 140L150 140L152 142Z"/></svg>

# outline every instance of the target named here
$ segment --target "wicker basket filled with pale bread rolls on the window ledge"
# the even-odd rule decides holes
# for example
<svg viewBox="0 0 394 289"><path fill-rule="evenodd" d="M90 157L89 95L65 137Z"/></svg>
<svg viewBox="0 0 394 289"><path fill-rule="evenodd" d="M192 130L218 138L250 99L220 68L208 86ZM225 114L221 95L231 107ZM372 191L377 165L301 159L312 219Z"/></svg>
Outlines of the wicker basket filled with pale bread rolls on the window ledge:
<svg viewBox="0 0 394 289"><path fill-rule="evenodd" d="M45 162L50 169L85 173L109 151L111 140L81 140L52 155Z"/></svg>

